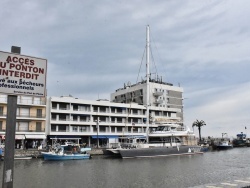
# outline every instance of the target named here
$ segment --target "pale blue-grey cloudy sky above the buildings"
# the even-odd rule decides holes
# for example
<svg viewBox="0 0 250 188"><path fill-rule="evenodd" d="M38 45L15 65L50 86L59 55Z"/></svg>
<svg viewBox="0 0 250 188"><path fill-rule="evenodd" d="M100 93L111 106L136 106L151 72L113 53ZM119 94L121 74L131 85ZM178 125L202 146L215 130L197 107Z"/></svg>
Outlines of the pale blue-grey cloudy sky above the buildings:
<svg viewBox="0 0 250 188"><path fill-rule="evenodd" d="M0 7L0 51L20 46L47 59L48 96L109 99L135 83L150 25L157 73L184 88L185 124L204 120L202 136L250 135L250 1L1 0Z"/></svg>

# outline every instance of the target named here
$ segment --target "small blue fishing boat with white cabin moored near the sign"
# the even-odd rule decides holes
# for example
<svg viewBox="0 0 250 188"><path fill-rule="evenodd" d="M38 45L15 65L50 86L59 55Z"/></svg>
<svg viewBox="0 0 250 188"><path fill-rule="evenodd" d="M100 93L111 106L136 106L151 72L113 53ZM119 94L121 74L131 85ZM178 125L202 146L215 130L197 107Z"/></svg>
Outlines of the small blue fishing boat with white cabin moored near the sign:
<svg viewBox="0 0 250 188"><path fill-rule="evenodd" d="M82 160L89 159L91 148L81 148L78 145L54 145L50 151L41 152L44 160Z"/></svg>

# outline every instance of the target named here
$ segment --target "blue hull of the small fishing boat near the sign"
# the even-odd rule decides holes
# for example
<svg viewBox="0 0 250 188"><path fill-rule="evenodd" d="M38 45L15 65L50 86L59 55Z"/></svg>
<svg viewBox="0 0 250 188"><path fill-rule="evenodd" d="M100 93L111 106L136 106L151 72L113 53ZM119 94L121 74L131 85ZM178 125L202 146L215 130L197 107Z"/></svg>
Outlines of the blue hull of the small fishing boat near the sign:
<svg viewBox="0 0 250 188"><path fill-rule="evenodd" d="M43 155L44 160L50 160L50 161L83 160L83 159L89 159L90 158L90 154L64 154L64 155L58 155L58 154L42 152L42 155Z"/></svg>

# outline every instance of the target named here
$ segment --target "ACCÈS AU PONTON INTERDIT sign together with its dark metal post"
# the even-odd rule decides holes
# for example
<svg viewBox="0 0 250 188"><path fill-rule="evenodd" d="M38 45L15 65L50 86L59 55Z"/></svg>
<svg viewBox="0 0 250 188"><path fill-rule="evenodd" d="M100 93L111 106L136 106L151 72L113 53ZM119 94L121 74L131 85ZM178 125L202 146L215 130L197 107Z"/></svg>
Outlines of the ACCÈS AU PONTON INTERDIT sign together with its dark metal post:
<svg viewBox="0 0 250 188"><path fill-rule="evenodd" d="M11 52L0 51L0 93L8 94L3 188L13 188L17 95L44 97L46 92L47 60L20 55L20 47Z"/></svg>

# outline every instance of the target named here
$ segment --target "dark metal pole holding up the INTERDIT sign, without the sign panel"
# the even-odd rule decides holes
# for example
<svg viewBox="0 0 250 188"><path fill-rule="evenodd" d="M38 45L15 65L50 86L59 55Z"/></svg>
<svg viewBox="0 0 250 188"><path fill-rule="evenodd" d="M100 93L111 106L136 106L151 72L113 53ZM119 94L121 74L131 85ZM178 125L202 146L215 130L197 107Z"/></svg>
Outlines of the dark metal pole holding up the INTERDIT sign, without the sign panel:
<svg viewBox="0 0 250 188"><path fill-rule="evenodd" d="M11 52L20 54L21 48L12 46ZM13 188L16 111L17 111L17 96L8 95L2 188Z"/></svg>

